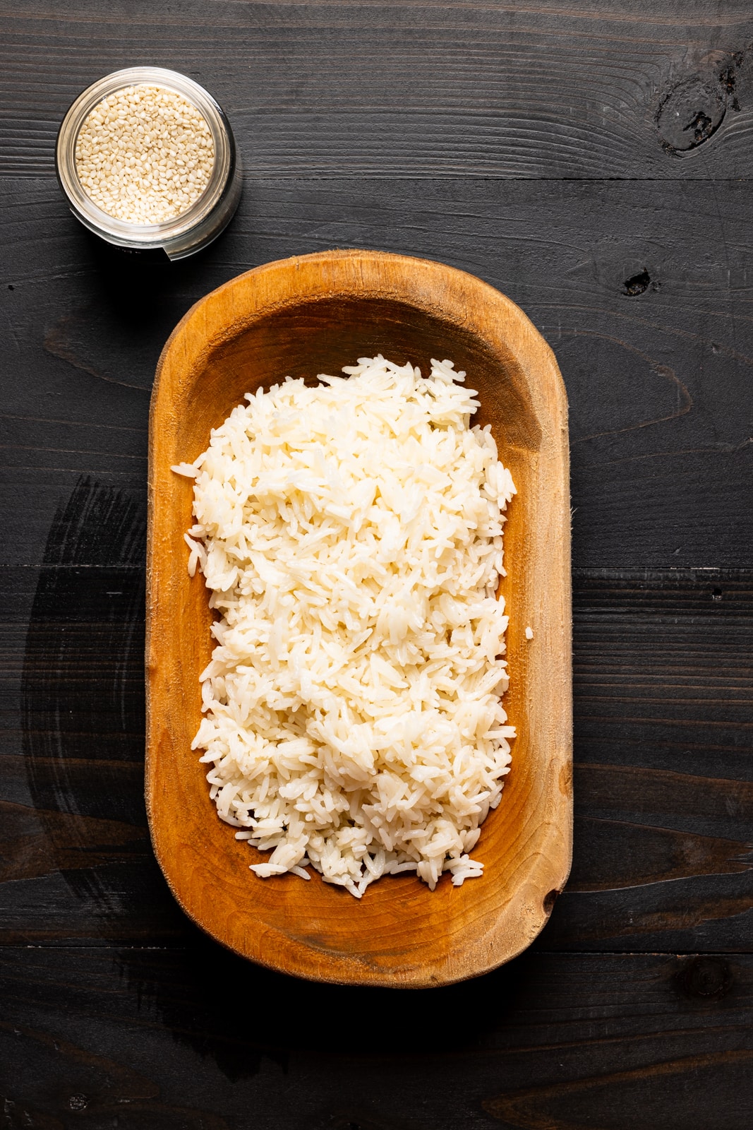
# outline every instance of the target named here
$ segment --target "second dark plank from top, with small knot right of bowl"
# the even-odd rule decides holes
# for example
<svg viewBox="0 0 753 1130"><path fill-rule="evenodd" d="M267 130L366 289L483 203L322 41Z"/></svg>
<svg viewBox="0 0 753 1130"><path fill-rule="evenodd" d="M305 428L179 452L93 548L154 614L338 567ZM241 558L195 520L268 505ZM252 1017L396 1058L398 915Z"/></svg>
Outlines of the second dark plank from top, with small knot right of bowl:
<svg viewBox="0 0 753 1130"><path fill-rule="evenodd" d="M5 563L42 560L82 475L143 515L154 367L192 302L271 259L373 246L479 275L553 347L570 400L576 567L750 565L746 184L257 182L226 236L173 264L111 252L46 181L2 182L0 201L2 519L25 514ZM642 293L628 293L643 272Z"/></svg>

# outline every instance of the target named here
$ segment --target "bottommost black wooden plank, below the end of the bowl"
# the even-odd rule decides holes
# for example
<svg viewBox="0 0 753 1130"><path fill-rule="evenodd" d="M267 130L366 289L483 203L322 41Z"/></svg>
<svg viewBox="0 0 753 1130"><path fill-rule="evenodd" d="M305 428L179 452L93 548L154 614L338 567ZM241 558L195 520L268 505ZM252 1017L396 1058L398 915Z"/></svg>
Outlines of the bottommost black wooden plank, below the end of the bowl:
<svg viewBox="0 0 753 1130"><path fill-rule="evenodd" d="M193 935L181 949L7 948L0 979L19 1130L629 1130L646 1111L665 1130L746 1130L753 1116L751 956L528 954L405 997L271 974ZM333 1015L354 1024L292 1019Z"/></svg>

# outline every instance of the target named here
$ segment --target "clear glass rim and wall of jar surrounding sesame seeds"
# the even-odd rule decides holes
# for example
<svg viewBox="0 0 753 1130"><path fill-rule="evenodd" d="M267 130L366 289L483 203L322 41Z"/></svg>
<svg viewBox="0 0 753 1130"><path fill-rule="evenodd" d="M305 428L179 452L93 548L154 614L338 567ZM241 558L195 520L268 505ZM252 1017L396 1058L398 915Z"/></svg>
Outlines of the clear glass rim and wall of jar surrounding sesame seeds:
<svg viewBox="0 0 753 1130"><path fill-rule="evenodd" d="M116 90L145 84L183 95L202 114L214 142L209 184L190 208L161 224L130 224L103 211L86 193L76 167L79 130L94 107ZM139 251L161 247L169 259L185 259L216 240L240 199L240 160L225 112L193 79L161 67L129 67L87 87L63 118L55 146L55 168L71 211L89 231L121 247Z"/></svg>

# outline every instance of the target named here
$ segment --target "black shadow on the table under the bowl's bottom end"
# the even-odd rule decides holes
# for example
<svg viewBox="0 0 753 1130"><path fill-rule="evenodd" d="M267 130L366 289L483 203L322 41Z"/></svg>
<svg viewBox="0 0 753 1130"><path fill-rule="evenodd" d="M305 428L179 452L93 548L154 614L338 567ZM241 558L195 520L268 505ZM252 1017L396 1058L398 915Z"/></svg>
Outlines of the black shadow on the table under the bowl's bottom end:
<svg viewBox="0 0 753 1130"><path fill-rule="evenodd" d="M173 1037L211 1055L231 1080L255 1075L263 1057L284 1068L294 1051L360 1060L472 1052L505 1024L534 976L524 955L441 989L318 984L264 970L186 929L184 947L121 949L119 963Z"/></svg>

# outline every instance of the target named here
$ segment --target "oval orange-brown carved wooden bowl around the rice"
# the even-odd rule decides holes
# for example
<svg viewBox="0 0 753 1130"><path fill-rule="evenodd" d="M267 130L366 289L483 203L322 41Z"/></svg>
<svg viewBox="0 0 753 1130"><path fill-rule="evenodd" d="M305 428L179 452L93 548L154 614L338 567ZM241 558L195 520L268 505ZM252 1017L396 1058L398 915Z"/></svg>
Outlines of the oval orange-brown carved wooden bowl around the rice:
<svg viewBox="0 0 753 1130"><path fill-rule="evenodd" d="M199 673L211 641L203 577L186 572L193 461L244 393L286 375L340 373L377 353L450 357L478 389L518 488L508 508L502 592L510 626L505 704L518 737L499 808L473 855L480 879L432 893L385 877L359 902L312 869L257 879L192 753ZM533 627L527 641L525 628ZM571 659L567 401L554 356L523 312L441 263L331 251L268 263L196 303L157 366L149 437L147 810L159 864L183 910L238 954L296 976L427 986L492 970L536 937L570 868Z"/></svg>

